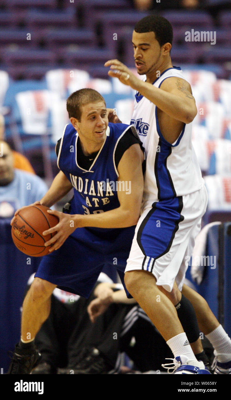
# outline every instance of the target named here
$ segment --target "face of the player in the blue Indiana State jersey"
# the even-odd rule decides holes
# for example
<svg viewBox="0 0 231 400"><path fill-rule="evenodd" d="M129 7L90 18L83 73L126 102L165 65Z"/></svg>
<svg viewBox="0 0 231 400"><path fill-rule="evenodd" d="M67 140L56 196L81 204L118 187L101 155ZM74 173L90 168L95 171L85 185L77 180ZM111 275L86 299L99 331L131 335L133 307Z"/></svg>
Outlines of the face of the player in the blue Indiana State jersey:
<svg viewBox="0 0 231 400"><path fill-rule="evenodd" d="M100 144L106 138L108 114L103 101L82 106L81 120L77 122L77 132L88 142Z"/></svg>

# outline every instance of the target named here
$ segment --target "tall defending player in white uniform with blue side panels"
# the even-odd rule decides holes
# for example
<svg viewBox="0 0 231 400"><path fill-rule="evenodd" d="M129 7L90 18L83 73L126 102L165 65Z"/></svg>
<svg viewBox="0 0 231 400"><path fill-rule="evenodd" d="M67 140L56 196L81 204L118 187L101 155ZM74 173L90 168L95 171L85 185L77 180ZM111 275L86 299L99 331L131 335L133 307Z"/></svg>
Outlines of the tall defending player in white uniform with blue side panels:
<svg viewBox="0 0 231 400"><path fill-rule="evenodd" d="M135 66L146 80L118 60L105 63L108 75L137 90L131 123L147 155L141 217L125 283L170 346L175 373L208 373L198 361L207 364L198 319L215 348L215 373L229 374L230 338L207 302L183 285L185 256L191 256L200 231L207 191L191 142L197 108L181 68L172 65L172 40L169 21L147 16L136 24L132 38Z"/></svg>

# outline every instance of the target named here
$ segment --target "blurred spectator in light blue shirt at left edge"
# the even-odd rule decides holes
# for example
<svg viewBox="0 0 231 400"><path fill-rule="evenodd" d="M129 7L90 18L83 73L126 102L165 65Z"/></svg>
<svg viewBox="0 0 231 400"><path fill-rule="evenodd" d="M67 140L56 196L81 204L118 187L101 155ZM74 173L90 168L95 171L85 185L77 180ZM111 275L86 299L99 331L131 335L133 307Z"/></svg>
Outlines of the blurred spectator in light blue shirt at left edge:
<svg viewBox="0 0 231 400"><path fill-rule="evenodd" d="M8 143L0 140L0 217L10 217L23 206L42 198L47 186L38 176L14 168Z"/></svg>

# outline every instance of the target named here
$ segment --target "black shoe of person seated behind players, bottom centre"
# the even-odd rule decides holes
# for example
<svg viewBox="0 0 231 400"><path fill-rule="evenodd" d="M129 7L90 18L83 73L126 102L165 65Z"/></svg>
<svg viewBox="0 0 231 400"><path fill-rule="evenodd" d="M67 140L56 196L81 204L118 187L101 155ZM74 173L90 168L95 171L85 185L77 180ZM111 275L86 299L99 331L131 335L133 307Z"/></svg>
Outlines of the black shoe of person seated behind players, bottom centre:
<svg viewBox="0 0 231 400"><path fill-rule="evenodd" d="M81 360L74 368L66 369L61 374L108 374L112 366L100 354L97 348L88 350L88 356Z"/></svg>

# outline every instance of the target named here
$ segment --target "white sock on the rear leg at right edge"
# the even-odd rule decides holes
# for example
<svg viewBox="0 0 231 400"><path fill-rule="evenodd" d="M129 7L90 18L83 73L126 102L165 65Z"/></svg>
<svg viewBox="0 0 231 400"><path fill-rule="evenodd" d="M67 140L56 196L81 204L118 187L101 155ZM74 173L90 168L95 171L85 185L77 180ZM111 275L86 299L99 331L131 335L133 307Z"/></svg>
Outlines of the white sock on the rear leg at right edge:
<svg viewBox="0 0 231 400"><path fill-rule="evenodd" d="M216 329L205 336L215 348L219 362L227 362L231 360L231 339L225 332L223 326L219 325Z"/></svg>

